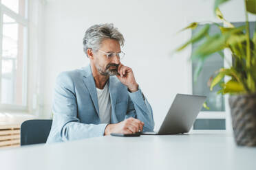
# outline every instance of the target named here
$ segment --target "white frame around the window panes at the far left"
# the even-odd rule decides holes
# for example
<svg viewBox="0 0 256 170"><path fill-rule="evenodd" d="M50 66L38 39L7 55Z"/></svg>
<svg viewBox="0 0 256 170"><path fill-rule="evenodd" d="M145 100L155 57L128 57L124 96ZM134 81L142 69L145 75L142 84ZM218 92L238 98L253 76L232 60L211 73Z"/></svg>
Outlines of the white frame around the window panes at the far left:
<svg viewBox="0 0 256 170"><path fill-rule="evenodd" d="M25 1L25 15L21 16L21 14L17 14L16 12L10 10L10 8L3 5L0 0L0 89L1 89L1 67L2 67L2 40L3 40L3 15L9 16L14 19L17 23L21 24L24 27L24 45L23 45L23 79L22 84L24 88L22 89L22 106L17 104L1 104L0 103L0 111L8 112L8 111L28 111L28 11L29 11L29 0ZM0 91L0 99L1 99L1 91ZM1 101L1 100L0 100Z"/></svg>

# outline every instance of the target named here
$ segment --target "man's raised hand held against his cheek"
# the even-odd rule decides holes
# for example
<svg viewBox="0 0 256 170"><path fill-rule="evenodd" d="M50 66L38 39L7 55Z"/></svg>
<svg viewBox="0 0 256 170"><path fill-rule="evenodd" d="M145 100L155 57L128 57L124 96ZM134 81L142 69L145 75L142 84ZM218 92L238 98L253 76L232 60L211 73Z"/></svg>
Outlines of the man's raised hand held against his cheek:
<svg viewBox="0 0 256 170"><path fill-rule="evenodd" d="M125 84L131 92L138 90L138 84L135 80L134 72L128 66L124 66L120 63L118 66L118 75L116 75L116 77L118 77L120 82Z"/></svg>

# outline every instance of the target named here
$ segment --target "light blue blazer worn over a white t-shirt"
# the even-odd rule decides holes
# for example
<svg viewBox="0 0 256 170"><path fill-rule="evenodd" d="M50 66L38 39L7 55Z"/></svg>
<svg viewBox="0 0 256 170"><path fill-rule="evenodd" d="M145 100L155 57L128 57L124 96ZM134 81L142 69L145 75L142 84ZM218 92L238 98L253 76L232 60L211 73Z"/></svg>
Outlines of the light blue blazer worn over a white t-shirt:
<svg viewBox="0 0 256 170"><path fill-rule="evenodd" d="M116 76L109 77L111 123L134 117L144 122L144 132L154 128L153 112L140 87L130 93ZM47 143L103 136L106 123L98 117L98 97L91 66L65 71L56 78L53 122Z"/></svg>

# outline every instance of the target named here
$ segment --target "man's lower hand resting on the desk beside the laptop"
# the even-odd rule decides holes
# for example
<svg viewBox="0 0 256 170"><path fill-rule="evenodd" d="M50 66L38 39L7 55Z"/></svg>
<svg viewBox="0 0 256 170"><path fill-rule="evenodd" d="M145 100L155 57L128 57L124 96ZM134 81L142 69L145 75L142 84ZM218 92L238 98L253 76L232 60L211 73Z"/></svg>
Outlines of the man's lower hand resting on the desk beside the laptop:
<svg viewBox="0 0 256 170"><path fill-rule="evenodd" d="M134 134L136 132L142 132L144 123L138 119L130 117L116 124L109 124L105 128L104 135L109 135L111 133L121 133L121 134Z"/></svg>

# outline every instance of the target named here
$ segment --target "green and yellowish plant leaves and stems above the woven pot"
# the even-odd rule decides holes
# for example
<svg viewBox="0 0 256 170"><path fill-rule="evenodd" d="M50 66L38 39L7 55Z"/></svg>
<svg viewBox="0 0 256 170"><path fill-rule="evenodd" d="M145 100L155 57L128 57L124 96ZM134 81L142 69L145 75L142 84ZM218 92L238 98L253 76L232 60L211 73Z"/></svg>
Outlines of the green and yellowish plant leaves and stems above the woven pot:
<svg viewBox="0 0 256 170"><path fill-rule="evenodd" d="M217 71L217 75L211 79L211 90L213 86L220 84L222 87L218 93L222 94L253 94L256 93L256 30L254 36L250 38L248 12L256 14L256 0L244 0L246 25L242 27L234 27L231 23L224 19L219 6L222 3L230 0L215 0L214 12L218 19L222 20L224 26L213 23L220 28L220 34L213 36L209 35L210 24L206 24L198 34L195 34L190 40L184 43L176 51L182 51L191 43L203 41L194 53L192 53L191 60L198 62L195 71L195 80L198 77L204 61L213 53L220 53L225 59L223 50L228 48L231 50L233 64L229 68L222 68ZM200 23L191 23L185 29L195 29ZM206 39L206 40L205 40ZM231 77L228 82L224 82L225 76Z"/></svg>

